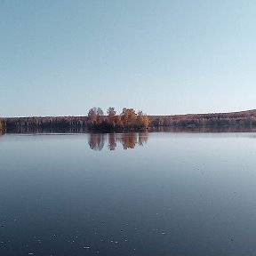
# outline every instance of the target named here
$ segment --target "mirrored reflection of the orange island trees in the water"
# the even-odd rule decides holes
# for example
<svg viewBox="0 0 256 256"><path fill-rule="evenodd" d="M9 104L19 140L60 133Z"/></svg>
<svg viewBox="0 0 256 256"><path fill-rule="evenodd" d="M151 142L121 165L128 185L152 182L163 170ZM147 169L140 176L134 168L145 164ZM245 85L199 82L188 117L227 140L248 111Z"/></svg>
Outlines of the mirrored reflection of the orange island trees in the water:
<svg viewBox="0 0 256 256"><path fill-rule="evenodd" d="M143 146L148 141L148 132L127 132L127 133L89 133L88 144L93 150L101 150L108 143L109 150L115 150L117 144L124 149Z"/></svg>

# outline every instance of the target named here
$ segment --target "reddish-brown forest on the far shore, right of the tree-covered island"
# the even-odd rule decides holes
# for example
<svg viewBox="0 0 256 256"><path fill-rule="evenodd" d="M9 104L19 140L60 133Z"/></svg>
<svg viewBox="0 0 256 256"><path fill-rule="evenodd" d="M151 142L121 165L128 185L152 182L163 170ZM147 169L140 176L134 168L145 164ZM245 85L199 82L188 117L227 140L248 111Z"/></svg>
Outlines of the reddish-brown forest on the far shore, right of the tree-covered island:
<svg viewBox="0 0 256 256"><path fill-rule="evenodd" d="M190 114L180 116L150 116L151 125L172 127L223 127L223 126L256 126L256 110L217 113Z"/></svg>

